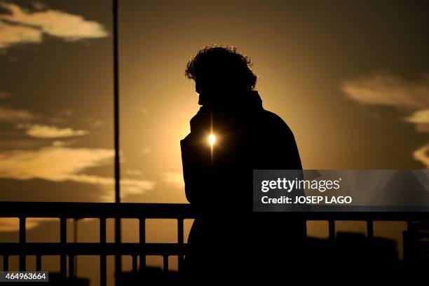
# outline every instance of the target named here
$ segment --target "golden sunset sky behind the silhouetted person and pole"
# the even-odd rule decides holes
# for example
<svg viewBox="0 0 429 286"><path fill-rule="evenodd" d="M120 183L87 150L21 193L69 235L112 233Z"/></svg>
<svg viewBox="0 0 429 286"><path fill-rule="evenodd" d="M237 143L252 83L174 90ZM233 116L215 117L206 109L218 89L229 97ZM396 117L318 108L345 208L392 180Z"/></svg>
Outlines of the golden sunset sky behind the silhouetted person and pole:
<svg viewBox="0 0 429 286"><path fill-rule="evenodd" d="M208 43L251 57L305 169L429 167L428 1L119 2L124 202L186 203L184 67ZM111 21L111 1L0 0L0 200L114 200Z"/></svg>

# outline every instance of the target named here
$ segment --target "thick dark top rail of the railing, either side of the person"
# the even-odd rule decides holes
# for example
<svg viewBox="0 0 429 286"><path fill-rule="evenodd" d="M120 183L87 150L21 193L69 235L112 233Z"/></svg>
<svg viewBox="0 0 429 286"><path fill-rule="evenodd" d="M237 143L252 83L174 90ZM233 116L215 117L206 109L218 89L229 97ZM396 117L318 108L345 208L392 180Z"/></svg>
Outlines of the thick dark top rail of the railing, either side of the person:
<svg viewBox="0 0 429 286"><path fill-rule="evenodd" d="M223 216L224 214L220 214ZM275 214L280 215L280 214ZM287 212L306 220L428 220L429 212ZM192 219L191 205L179 203L0 202L0 217Z"/></svg>

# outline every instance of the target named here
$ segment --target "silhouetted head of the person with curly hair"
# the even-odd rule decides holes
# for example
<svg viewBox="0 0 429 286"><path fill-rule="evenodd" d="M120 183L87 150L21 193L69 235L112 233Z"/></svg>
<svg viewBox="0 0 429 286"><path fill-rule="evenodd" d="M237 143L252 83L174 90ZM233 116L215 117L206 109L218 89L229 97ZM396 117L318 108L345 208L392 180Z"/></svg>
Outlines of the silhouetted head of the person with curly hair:
<svg viewBox="0 0 429 286"><path fill-rule="evenodd" d="M186 64L185 76L195 81L200 104L229 104L256 86L250 58L228 45L205 46Z"/></svg>

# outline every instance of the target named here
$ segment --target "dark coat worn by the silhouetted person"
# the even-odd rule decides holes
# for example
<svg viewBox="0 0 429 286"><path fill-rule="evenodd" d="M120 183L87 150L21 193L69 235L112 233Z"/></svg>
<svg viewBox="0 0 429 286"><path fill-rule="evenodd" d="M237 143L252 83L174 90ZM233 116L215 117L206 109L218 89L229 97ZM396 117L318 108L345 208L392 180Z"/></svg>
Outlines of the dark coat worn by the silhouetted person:
<svg viewBox="0 0 429 286"><path fill-rule="evenodd" d="M216 136L212 149L207 139L211 132ZM255 267L261 273L265 260L273 258L265 247L280 248L293 240L298 249L305 222L290 221L285 213L252 212L252 170L301 170L292 131L262 107L256 91L222 110L201 107L180 144L186 198L197 213L187 273L219 277ZM275 256L292 255L290 250L275 251Z"/></svg>

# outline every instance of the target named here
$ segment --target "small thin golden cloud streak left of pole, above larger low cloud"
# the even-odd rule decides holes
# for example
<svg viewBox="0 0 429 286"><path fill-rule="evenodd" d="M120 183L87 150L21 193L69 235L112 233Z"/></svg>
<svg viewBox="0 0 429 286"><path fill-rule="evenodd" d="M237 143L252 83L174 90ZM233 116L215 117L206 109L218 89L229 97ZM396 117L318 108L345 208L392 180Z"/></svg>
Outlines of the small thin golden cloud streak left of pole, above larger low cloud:
<svg viewBox="0 0 429 286"><path fill-rule="evenodd" d="M27 129L27 135L39 138L72 137L87 135L89 133L88 130L73 130L71 128L57 128L56 126L39 124L18 124L17 128Z"/></svg>

